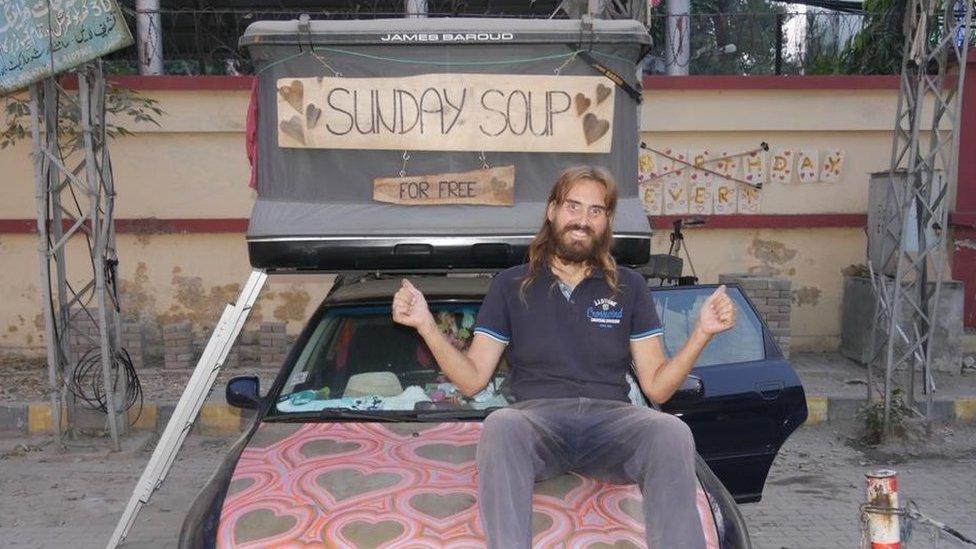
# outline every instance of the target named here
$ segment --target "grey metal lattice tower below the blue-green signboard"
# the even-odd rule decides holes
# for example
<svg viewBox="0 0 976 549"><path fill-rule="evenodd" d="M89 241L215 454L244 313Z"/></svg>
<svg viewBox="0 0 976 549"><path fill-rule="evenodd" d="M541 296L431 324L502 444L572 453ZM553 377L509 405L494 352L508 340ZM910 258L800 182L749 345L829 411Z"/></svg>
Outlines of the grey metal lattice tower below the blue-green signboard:
<svg viewBox="0 0 976 549"><path fill-rule="evenodd" d="M107 412L113 412L106 415L115 451L121 449L119 436L127 427L125 410L119 407L126 401L120 394L125 384L118 383L125 372L115 360L122 324L115 287L115 184L107 142L105 89L101 60L78 69L77 94L69 93L56 77L30 86L37 251L52 431L59 451L65 448L64 435L70 431L77 411L67 390L67 380L77 367L72 363L73 334L88 339L100 350L104 405ZM78 109L80 133L66 131L61 125L62 102ZM89 266L82 268L86 273L78 287L69 281L66 257L68 244L75 237L85 238L90 266L90 271ZM96 327L97 339L78 328L86 317ZM63 405L67 406L66 414L62 414ZM67 425L63 425L63 415Z"/></svg>

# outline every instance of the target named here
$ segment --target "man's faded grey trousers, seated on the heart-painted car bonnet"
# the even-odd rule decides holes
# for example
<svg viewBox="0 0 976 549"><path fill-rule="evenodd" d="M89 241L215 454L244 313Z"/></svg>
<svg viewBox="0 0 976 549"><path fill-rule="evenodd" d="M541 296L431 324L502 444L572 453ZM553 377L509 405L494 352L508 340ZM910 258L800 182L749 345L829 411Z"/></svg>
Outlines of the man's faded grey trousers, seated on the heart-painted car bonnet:
<svg viewBox="0 0 976 549"><path fill-rule="evenodd" d="M670 414L589 398L527 400L485 419L477 461L489 547L530 547L533 485L567 471L638 484L652 549L705 547L694 439Z"/></svg>

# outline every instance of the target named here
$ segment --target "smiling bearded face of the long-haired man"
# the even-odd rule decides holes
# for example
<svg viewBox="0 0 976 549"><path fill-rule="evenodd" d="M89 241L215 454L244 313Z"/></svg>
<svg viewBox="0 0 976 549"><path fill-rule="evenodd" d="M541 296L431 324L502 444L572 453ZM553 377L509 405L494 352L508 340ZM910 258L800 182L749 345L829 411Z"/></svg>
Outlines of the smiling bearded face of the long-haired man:
<svg viewBox="0 0 976 549"><path fill-rule="evenodd" d="M562 204L550 204L546 212L556 255L570 263L596 262L599 244L608 236L606 190L591 179L573 184Z"/></svg>

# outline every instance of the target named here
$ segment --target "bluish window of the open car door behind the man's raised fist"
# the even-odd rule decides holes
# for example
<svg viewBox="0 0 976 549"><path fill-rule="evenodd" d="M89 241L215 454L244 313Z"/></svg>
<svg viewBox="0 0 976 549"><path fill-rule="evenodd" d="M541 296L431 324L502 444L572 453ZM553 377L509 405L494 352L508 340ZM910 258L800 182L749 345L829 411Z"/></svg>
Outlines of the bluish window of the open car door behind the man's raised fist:
<svg viewBox="0 0 976 549"><path fill-rule="evenodd" d="M698 323L701 306L715 288L675 287L651 292L657 316L664 326L664 348L672 356L685 344ZM766 358L762 323L735 287L727 289L736 306L732 329L715 335L698 357L695 366L751 362Z"/></svg>

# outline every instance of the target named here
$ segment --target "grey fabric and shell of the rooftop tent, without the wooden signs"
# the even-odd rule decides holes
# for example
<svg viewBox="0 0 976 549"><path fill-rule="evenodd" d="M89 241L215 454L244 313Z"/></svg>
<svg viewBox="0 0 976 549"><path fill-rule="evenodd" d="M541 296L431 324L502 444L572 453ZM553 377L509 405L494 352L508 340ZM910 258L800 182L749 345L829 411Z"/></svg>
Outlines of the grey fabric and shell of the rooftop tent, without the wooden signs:
<svg viewBox="0 0 976 549"><path fill-rule="evenodd" d="M511 207L399 206L375 202L373 179L395 176L403 167L402 151L278 147L279 78L455 72L551 76L557 69L561 75L598 75L580 57L540 59L583 49L640 89L637 61L649 43L643 26L636 21L592 23L590 31L574 20L312 21L307 32L299 30L298 21L252 24L241 38L258 75L258 200L248 228L249 242L314 236L531 235L539 228L547 193L558 174L581 164L606 167L616 177L621 201L615 232L642 235L649 241L647 218L637 200L639 105L617 86L610 153L485 152L485 160L492 166L515 166L515 205ZM384 41L391 34L444 32L471 36L472 40L409 44ZM501 33L510 35L510 39L492 40ZM610 82L608 79L608 85ZM411 151L409 155L408 175L463 172L481 166L477 151ZM253 248L251 259L255 266L275 266L273 254L257 259Z"/></svg>

